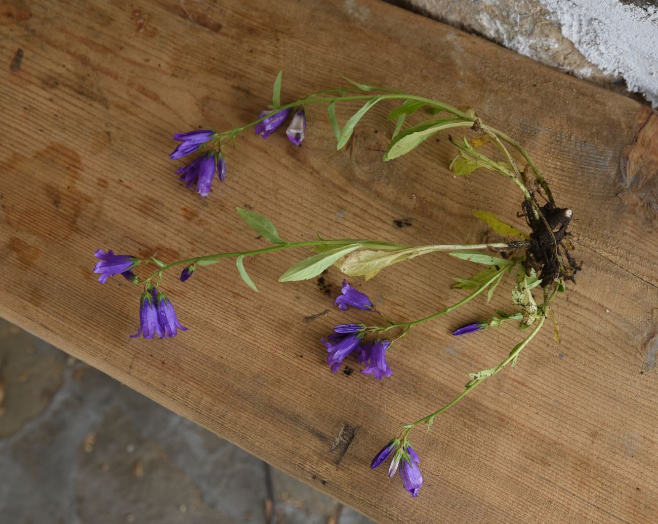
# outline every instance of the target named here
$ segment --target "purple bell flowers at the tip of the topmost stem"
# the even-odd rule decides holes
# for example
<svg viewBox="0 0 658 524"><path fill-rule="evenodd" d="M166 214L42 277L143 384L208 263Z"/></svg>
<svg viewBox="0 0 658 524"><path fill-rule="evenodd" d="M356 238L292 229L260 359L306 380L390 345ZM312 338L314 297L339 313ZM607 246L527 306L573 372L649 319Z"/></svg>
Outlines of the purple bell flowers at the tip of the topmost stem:
<svg viewBox="0 0 658 524"><path fill-rule="evenodd" d="M178 147L169 156L172 160L187 156L215 137L215 131L210 129L176 133L174 134L174 140L179 140L182 143L178 144ZM219 150L206 152L192 160L188 165L182 165L176 169L176 173L180 175L180 180L188 187L192 187L196 183L197 192L201 196L207 196L213 185L215 173L222 182L226 178L224 154Z"/></svg>

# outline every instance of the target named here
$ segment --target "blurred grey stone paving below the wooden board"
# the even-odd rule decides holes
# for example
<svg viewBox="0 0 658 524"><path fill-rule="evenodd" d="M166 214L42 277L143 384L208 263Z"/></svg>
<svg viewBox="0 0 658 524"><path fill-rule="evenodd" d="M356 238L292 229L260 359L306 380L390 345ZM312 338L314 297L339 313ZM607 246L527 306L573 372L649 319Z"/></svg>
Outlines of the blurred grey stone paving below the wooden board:
<svg viewBox="0 0 658 524"><path fill-rule="evenodd" d="M0 319L0 522L372 522Z"/></svg>

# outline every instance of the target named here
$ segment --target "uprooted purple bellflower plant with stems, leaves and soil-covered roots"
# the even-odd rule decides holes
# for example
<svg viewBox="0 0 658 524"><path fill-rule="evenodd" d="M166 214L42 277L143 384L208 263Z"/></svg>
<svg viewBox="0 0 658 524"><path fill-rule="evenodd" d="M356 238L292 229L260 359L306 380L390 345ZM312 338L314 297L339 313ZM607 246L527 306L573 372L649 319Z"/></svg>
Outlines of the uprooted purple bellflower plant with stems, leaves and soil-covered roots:
<svg viewBox="0 0 658 524"><path fill-rule="evenodd" d="M328 118L336 135L337 149L340 150L349 142L359 121L369 118L368 111L374 105L394 103L395 107L388 113L387 120L394 121L395 125L391 126L390 142L384 152L384 161L399 158L422 143L432 144L434 140L427 139L440 132L464 131L468 136L462 136L461 139L447 136L449 142L455 146L455 156L447 165L447 169L459 176L468 176L476 171L489 171L510 181L520 191L519 216L525 217L527 228L517 229L492 213L479 210L474 212L474 216L500 235L502 238L499 241L481 244L413 245L378 239L325 239L318 233L316 239L290 242L279 235L274 224L265 216L238 208L241 218L259 238L269 244L267 247L240 252L227 250L201 254L168 263L153 256L136 258L115 255L111 250L98 250L95 253L98 262L93 272L100 275L101 283L105 283L110 276L122 274L136 285L143 285L139 305L139 331L132 336L141 335L152 339L155 335L160 338L173 337L179 330L186 330L178 321L172 304L162 291L166 274L178 266L184 268L180 280L186 281L197 268L201 270L224 258L233 258L243 282L258 291L255 282L247 273L245 261L248 262L253 256L263 256L278 250L312 250L311 254L293 264L279 277L281 282L312 279L331 266L337 268L345 277L363 276L370 279L388 266L436 252L447 252L459 260L478 264L478 271L456 278L452 287L457 290L455 293L462 293L459 299L422 318L408 321L392 320L382 314L365 293L357 291L343 280L341 294L335 301L336 306L342 311L351 307L368 312L364 314L378 315L377 323L338 324L332 334L321 339L327 351L327 363L332 372L336 372L345 358L355 353L359 363L365 364L363 374L372 374L378 380L392 375L387 362L392 347L403 345L404 343L398 341L417 326L441 318L478 296L486 297L486 302L489 302L501 281L506 280L509 283L511 304L515 308L513 314L496 311L496 316L488 322L472 322L457 329L447 330L447 333L463 335L501 326L503 322L516 321L520 330L525 332L525 338L492 368L471 373L464 389L447 403L442 402L442 407L414 422L403 424L399 436L390 440L372 460L371 467L374 469L390 458L390 476L399 469L403 486L411 496L416 497L423 484L423 477L418 455L411 448L411 431L424 424L429 430L436 417L457 404L476 386L507 368L508 364L509 368L514 368L521 351L540 332L547 317L553 316L553 301L557 293L565 291L566 282L574 281L576 272L580 270L580 266L570 254L572 248L569 243L569 225L573 213L569 208L557 206L544 175L519 142L482 121L474 109L467 106L453 107L400 90L352 80L347 82L349 86L320 90L299 100L283 103L282 73L279 73L274 81L272 104L261 112L259 119L228 131L201 129L175 134L174 139L180 144L170 155L172 160L198 153L197 158L188 165L178 168L181 180L188 187L196 185L197 192L201 196L207 196L215 173L224 181L224 146L251 127L257 134L267 138L283 125L291 111L294 113L286 134L293 144L299 145L305 134L305 111L310 111L309 107L313 105L326 104ZM358 104L360 107L341 125L336 117L338 104L342 107ZM423 114L425 116L418 121L418 115ZM132 271L138 267L149 266L153 271L145 276L140 277ZM409 292L413 293L411 290ZM556 339L559 339L554 317L553 328ZM436 352L432 355L416 353L415 359L436 359Z"/></svg>

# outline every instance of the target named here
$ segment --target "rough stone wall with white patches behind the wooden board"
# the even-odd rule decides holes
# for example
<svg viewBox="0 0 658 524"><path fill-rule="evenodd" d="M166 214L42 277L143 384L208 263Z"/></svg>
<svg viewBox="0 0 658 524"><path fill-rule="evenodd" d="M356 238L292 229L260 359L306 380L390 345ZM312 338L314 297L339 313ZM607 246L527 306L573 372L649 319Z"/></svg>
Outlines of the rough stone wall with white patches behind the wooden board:
<svg viewBox="0 0 658 524"><path fill-rule="evenodd" d="M658 107L658 0L392 0Z"/></svg>

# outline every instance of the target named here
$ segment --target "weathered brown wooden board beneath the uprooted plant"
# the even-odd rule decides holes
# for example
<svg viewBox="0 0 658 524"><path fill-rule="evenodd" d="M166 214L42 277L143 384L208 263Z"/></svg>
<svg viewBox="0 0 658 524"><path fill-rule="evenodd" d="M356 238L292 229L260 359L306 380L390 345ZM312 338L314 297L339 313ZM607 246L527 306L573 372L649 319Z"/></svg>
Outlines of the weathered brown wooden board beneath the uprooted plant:
<svg viewBox="0 0 658 524"><path fill-rule="evenodd" d="M380 521L655 520L655 113L374 0L16 0L1 4L0 22L2 316ZM451 338L490 316L484 301L417 328L377 382L324 363L318 339L367 318L332 307L335 270L330 296L315 281L276 282L303 253L249 260L259 295L230 263L170 281L190 330L164 341L128 339L138 290L91 273L98 247L174 260L264 245L238 205L291 240L480 242L492 237L472 209L515 216L511 184L437 167L451 156L445 136L382 163L392 132L383 106L338 153L324 108L309 109L301 148L282 132L247 132L228 152L226 183L205 199L184 189L170 135L253 119L278 69L286 99L343 73L469 103L526 145L577 219L584 270L555 306L563 343L547 328L515 370L413 435L426 478L418 500L368 465L397 424L445 403L519 338L511 326ZM430 256L361 287L382 310L418 318L463 296L449 285L473 270ZM506 306L499 290L493 306Z"/></svg>

